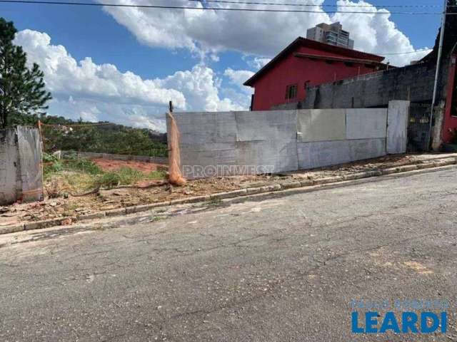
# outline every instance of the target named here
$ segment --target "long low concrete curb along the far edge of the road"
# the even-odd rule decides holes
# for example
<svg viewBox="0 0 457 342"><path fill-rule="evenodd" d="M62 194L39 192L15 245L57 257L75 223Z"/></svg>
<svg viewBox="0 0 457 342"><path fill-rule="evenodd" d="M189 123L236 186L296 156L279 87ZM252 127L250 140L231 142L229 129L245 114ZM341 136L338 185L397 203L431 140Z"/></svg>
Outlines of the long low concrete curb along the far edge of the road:
<svg viewBox="0 0 457 342"><path fill-rule="evenodd" d="M382 170L373 170L367 172L357 172L351 175L345 176L335 176L335 177L323 177L317 180L287 180L284 182L279 182L272 185L266 185L262 187L249 187L246 189L241 190L233 190L229 192L219 192L212 195L205 195L205 196L196 196L196 197L188 197L184 199L173 199L171 201L166 202L159 202L159 203L152 203L152 204L144 204L144 205L137 205L134 207L125 207L119 209L112 209L105 212L94 212L91 214L84 214L78 215L76 217L71 217L72 222L84 222L89 221L91 219L103 219L105 217L121 217L126 216L128 214L134 214L137 212L146 212L151 209L156 209L158 207L168 207L175 204L191 204L191 203L199 203L199 202L207 202L209 200L221 200L221 199L233 199L236 197L244 197L250 195L260 195L260 194L267 194L271 192L278 192L280 190L295 190L296 192L301 189L305 190L306 187L311 187L314 185L329 185L332 183L338 182L348 182L351 180L361 180L363 178L370 178L370 177L378 177L382 175L393 175L396 173L403 173L403 172L410 172L414 170L424 170L424 169L432 169L438 168L448 165L456 165L457 158L446 158L443 160L435 160L433 162L423 162L420 164L413 164L413 165L403 165L399 167L391 167L388 169ZM68 220L69 217L59 217L57 219L47 219L44 221L36 221L36 222L25 222L21 224L14 224L6 227L0 227L0 235L1 234L10 234L16 232L22 232L24 230L32 230L32 229L44 229L49 227L60 226L63 224L64 221Z"/></svg>

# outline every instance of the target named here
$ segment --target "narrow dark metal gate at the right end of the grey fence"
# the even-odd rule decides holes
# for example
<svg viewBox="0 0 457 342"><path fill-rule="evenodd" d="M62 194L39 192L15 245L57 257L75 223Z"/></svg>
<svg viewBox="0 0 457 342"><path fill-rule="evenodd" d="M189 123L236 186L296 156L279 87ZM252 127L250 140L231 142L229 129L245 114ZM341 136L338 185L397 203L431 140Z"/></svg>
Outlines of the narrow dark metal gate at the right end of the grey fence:
<svg viewBox="0 0 457 342"><path fill-rule="evenodd" d="M430 150L430 103L411 103L408 118L408 152Z"/></svg>

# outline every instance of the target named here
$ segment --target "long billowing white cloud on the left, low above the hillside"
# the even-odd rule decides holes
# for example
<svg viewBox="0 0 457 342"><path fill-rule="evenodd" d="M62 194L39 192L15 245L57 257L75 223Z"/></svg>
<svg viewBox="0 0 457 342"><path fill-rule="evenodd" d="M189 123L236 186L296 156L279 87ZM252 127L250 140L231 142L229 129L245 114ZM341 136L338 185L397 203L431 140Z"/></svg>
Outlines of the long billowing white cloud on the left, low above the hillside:
<svg viewBox="0 0 457 342"><path fill-rule="evenodd" d="M130 71L121 73L113 64L98 65L89 57L78 63L64 46L51 45L51 37L46 33L20 31L15 43L24 48L29 61L39 63L46 75L46 86L56 95L143 105L166 105L173 99L177 107L186 106L182 93L160 87L156 80L143 80Z"/></svg>

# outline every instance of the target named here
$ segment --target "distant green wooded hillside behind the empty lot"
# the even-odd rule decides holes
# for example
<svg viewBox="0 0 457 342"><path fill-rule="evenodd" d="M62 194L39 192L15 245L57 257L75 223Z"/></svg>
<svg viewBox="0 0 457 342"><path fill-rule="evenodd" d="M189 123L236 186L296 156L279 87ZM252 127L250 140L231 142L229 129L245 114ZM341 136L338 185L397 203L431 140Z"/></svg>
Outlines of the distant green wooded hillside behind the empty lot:
<svg viewBox="0 0 457 342"><path fill-rule="evenodd" d="M44 150L75 150L166 157L166 134L146 128L131 128L109 122L73 121L61 116L45 116Z"/></svg>

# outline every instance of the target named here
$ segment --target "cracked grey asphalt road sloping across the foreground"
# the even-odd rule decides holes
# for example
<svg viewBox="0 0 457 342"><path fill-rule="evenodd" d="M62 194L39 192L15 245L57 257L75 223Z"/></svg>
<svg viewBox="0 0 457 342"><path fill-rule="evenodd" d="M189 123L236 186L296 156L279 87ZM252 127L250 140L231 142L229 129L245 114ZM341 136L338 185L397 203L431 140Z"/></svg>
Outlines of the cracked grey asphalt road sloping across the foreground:
<svg viewBox="0 0 457 342"><path fill-rule="evenodd" d="M0 341L457 341L456 170L2 236ZM351 333L396 299L447 333Z"/></svg>

